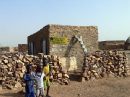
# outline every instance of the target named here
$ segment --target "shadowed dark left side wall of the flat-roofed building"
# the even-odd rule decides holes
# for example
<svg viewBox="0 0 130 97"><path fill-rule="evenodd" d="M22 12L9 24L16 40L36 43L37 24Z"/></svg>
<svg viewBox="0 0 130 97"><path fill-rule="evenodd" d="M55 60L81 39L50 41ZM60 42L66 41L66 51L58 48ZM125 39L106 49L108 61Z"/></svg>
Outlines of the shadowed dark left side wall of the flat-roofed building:
<svg viewBox="0 0 130 97"><path fill-rule="evenodd" d="M42 49L42 41L46 40L46 54L49 54L49 26L45 26L43 27L41 30L39 30L38 32L28 36L28 53L31 53L31 47L30 47L30 43L34 44L34 55L38 54L38 53L42 53L43 49Z"/></svg>

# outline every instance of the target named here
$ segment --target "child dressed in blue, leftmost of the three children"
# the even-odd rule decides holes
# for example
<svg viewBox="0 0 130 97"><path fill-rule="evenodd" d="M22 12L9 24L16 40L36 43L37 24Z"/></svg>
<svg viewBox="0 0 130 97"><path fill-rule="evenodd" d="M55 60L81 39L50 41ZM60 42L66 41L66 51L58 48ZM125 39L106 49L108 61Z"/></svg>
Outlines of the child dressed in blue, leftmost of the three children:
<svg viewBox="0 0 130 97"><path fill-rule="evenodd" d="M27 72L24 74L23 78L26 83L25 86L25 97L35 97L34 93L34 79L33 79L33 74L32 74L32 65L28 64L26 66Z"/></svg>

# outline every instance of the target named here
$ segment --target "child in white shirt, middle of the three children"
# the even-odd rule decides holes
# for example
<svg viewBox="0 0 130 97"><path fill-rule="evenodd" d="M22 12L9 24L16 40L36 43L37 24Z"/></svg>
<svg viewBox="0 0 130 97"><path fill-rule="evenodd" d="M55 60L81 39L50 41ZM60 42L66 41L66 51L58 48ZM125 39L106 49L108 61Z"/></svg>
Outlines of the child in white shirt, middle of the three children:
<svg viewBox="0 0 130 97"><path fill-rule="evenodd" d="M36 97L44 97L44 83L43 78L45 74L42 72L41 66L37 66L35 80L36 80Z"/></svg>

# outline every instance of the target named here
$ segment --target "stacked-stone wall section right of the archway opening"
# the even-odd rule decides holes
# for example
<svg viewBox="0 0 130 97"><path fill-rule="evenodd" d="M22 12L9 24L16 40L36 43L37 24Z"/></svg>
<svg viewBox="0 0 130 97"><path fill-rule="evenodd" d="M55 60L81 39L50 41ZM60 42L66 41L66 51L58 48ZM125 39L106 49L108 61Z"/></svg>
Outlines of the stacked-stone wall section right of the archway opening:
<svg viewBox="0 0 130 97"><path fill-rule="evenodd" d="M82 81L103 77L127 77L129 67L125 52L96 51L87 54L82 68Z"/></svg>

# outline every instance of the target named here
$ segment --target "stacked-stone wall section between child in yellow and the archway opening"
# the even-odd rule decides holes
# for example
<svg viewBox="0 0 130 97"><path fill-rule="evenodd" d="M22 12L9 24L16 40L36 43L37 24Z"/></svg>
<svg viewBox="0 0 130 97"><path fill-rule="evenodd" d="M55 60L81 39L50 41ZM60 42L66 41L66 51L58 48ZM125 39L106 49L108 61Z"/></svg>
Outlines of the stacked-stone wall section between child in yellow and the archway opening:
<svg viewBox="0 0 130 97"><path fill-rule="evenodd" d="M48 60L51 66L52 80L62 85L68 85L69 76L65 68L63 68L62 63L60 63L60 57L51 55L48 57Z"/></svg>

